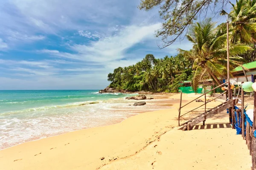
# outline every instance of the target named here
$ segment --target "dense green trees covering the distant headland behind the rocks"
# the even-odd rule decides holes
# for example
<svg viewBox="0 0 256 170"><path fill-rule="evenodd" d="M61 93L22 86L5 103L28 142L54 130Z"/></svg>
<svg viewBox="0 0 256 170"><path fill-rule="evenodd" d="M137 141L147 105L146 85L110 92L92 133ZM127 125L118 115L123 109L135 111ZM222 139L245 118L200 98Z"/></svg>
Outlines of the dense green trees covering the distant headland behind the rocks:
<svg viewBox="0 0 256 170"><path fill-rule="evenodd" d="M111 81L109 85L111 88L163 92L170 91L172 79L180 73L188 75L192 73L192 62L182 54L175 57L166 56L163 59L156 59L154 55L147 54L135 65L114 69L113 73L108 74L108 81Z"/></svg>

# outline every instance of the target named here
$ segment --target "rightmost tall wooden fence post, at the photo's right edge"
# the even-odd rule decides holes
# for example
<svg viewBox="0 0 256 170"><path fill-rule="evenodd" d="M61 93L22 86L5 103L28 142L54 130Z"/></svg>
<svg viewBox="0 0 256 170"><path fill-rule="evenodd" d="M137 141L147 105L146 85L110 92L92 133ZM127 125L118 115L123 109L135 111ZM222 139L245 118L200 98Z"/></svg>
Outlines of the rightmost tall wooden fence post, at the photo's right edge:
<svg viewBox="0 0 256 170"><path fill-rule="evenodd" d="M256 138L254 131L256 130L256 91L254 92L254 107L253 107L253 129L252 129L252 170L256 170Z"/></svg>

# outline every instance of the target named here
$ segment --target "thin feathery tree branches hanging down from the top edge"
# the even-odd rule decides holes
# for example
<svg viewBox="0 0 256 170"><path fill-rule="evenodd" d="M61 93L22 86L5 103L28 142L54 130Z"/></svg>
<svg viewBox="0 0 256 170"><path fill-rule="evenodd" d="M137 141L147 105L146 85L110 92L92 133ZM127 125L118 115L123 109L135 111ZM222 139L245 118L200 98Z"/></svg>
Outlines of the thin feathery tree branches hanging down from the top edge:
<svg viewBox="0 0 256 170"><path fill-rule="evenodd" d="M157 30L156 36L162 37L164 48L185 35L189 26L198 17L205 17L212 5L224 8L228 2L228 0L141 0L139 8L145 11L159 9L163 24L162 28ZM215 13L219 9L211 8L210 10ZM200 17L201 14L203 16Z"/></svg>

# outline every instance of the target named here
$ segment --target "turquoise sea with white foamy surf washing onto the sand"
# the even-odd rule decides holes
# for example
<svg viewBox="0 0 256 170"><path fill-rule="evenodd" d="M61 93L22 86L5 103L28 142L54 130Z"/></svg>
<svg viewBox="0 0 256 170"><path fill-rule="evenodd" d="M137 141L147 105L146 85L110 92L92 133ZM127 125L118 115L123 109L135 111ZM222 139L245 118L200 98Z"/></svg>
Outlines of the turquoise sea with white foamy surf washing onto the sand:
<svg viewBox="0 0 256 170"><path fill-rule="evenodd" d="M96 90L0 91L0 149L61 133L121 122L142 111L125 100L134 94Z"/></svg>

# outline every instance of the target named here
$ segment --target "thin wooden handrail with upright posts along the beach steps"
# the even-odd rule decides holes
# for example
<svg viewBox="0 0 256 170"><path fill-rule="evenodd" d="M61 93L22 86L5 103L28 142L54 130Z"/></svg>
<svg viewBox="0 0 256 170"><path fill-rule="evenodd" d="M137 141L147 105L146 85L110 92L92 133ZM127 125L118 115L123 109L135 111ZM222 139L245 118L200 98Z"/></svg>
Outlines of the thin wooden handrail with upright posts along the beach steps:
<svg viewBox="0 0 256 170"><path fill-rule="evenodd" d="M201 96L204 96L204 104L203 104L203 105L204 105L204 112L206 112L206 104L207 104L207 103L209 103L209 102L211 102L212 100L215 100L216 98L218 98L219 96L221 96L221 95L227 93L227 91L224 91L223 93L221 93L220 95L218 95L218 96L215 97L214 99L209 100L208 102L206 101L206 94L208 94L208 93L211 92L211 91L214 91L216 88L219 88L219 87L221 87L221 86L224 86L225 84L227 84L227 83L229 83L229 82L230 82L230 81L225 82L225 83L223 83L223 84L221 84L221 85L218 85L217 87L213 88L212 90L207 91L206 93L204 93L204 94L201 95ZM197 97L196 99L199 99L201 96ZM194 100L188 102L186 105L188 105L188 104L191 103L191 102L194 102L196 99L194 99ZM195 109L193 109L193 110L191 110L191 111L188 111L188 112L186 112L186 113L184 113L183 115L180 116L181 108L183 108L183 107L186 106L186 105L181 106L181 101L182 101L182 91L180 92L180 108L178 109L178 111L179 111L178 125L179 125L179 126L180 126L180 117L186 115L186 114L189 113L189 112L195 111L196 109L198 109L198 108L200 108L200 107L203 106L203 105L201 105L201 106L199 106L199 107L197 107L197 108L195 108ZM203 125L204 125L204 123L205 123L205 121L203 122Z"/></svg>

